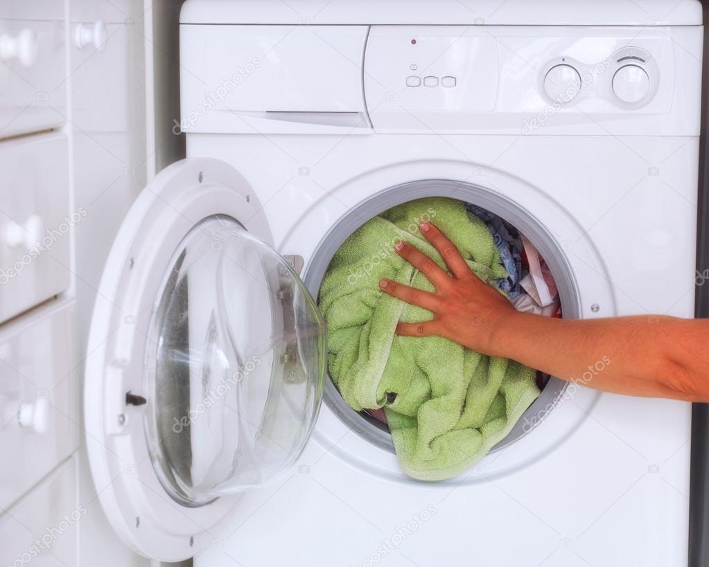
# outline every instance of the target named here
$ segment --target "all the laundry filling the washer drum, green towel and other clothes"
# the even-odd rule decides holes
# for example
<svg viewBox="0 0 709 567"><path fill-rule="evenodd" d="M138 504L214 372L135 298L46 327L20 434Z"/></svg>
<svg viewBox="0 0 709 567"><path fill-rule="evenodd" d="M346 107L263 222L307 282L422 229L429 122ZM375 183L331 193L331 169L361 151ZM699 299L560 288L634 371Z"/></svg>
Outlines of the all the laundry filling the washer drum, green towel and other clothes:
<svg viewBox="0 0 709 567"><path fill-rule="evenodd" d="M382 448L395 449L410 476L439 480L455 476L467 468L465 464L527 433L549 406L549 396L558 397L563 382L440 337L394 335L400 316L413 322L418 310L423 316L418 320L430 317L428 311L384 297L378 287L381 277L403 277L405 282L411 277L410 285L426 289L428 280L393 249L396 241L406 240L431 253L433 248L418 230L423 221L442 229L471 269L519 311L561 317L562 301L552 269L532 239L474 202L446 197L403 202L362 224L335 252L319 294L320 309L329 318L330 386L336 386L335 394L333 388L326 394L326 403L357 433ZM382 331L382 324L389 327ZM455 401L434 394L445 388L458 390ZM540 399L545 402L541 409ZM348 408L342 407L343 401ZM431 453L439 446L439 452L459 449L462 454L446 462L432 457L433 470L420 470L428 465L414 452L420 453L423 441ZM410 454L403 457L406 452Z"/></svg>

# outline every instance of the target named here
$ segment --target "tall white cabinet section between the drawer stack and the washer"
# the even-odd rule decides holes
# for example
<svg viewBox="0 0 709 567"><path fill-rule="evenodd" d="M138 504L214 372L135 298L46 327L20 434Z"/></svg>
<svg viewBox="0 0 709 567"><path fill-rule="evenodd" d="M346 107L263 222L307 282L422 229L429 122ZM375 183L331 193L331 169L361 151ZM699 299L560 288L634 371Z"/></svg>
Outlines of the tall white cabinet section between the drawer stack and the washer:
<svg viewBox="0 0 709 567"><path fill-rule="evenodd" d="M145 164L153 159L145 151L146 120L150 120L145 111L145 38L152 38L146 23L152 2L69 0L67 5L72 210L86 210L85 219L74 227L72 263L77 343L83 359L106 255L123 216L145 184ZM97 50L91 38L84 47L77 47L79 26L93 31L97 22L105 25L105 45ZM177 24L174 27L177 30ZM83 376L83 362L79 372ZM82 432L79 500L89 513L79 523L79 564L94 566L107 561L116 567L147 567L149 561L136 556L108 525L99 503L104 487L91 481L85 439Z"/></svg>

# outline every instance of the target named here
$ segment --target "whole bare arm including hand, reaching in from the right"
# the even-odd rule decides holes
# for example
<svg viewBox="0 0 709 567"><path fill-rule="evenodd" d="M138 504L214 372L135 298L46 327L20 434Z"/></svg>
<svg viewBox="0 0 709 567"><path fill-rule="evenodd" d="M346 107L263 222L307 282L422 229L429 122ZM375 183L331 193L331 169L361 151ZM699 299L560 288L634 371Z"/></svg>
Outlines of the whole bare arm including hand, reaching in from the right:
<svg viewBox="0 0 709 567"><path fill-rule="evenodd" d="M599 390L709 401L709 320L656 315L574 320L520 313L471 272L436 227L422 223L420 228L452 275L413 246L397 245L398 254L436 288L428 293L381 280L384 292L433 313L431 321L399 323L397 333L444 336Z"/></svg>

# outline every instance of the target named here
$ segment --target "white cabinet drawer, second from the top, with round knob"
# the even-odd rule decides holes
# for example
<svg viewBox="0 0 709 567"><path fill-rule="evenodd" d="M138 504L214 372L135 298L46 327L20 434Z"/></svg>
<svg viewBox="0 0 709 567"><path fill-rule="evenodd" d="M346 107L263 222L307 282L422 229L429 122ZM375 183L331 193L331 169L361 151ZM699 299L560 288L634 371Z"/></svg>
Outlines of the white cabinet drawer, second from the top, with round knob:
<svg viewBox="0 0 709 567"><path fill-rule="evenodd" d="M0 322L69 287L69 213L64 134L0 142Z"/></svg>

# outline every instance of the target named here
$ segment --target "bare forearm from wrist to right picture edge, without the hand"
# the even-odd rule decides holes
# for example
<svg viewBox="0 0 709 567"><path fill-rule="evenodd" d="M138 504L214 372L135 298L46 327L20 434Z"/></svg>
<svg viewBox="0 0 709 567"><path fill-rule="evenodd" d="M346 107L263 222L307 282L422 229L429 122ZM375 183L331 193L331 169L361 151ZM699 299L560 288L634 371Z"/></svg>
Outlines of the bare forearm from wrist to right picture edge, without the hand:
<svg viewBox="0 0 709 567"><path fill-rule="evenodd" d="M709 321L667 316L572 320L515 313L496 324L487 350L595 389L707 401L708 333Z"/></svg>

